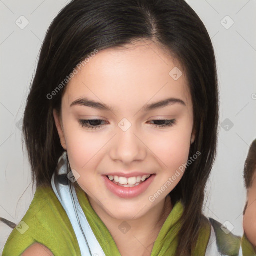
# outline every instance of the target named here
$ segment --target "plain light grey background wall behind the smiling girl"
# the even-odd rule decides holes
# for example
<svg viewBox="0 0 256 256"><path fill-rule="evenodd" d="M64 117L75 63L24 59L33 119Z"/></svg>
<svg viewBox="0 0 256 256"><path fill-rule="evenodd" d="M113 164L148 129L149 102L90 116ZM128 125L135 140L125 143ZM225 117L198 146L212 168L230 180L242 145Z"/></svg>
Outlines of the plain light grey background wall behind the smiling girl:
<svg viewBox="0 0 256 256"><path fill-rule="evenodd" d="M27 155L22 152L20 119L46 30L68 2L0 0L0 216L15 223L26 213L35 192ZM220 89L218 153L204 212L221 223L228 221L227 227L242 235L243 165L256 138L256 1L187 2L212 39ZM19 27L26 22L22 15L29 21L23 29ZM0 223L0 254L11 231Z"/></svg>

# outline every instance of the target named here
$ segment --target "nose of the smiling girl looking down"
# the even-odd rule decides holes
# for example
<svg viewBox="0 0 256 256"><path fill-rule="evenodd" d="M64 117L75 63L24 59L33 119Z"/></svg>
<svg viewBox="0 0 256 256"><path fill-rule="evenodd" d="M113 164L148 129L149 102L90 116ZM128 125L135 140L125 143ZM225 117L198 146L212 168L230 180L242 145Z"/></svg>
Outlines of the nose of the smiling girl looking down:
<svg viewBox="0 0 256 256"><path fill-rule="evenodd" d="M135 126L135 125L134 125ZM146 157L146 145L138 131L131 125L127 130L117 127L110 149L110 157L114 161L130 164L143 161Z"/></svg>

